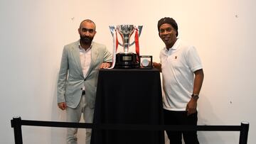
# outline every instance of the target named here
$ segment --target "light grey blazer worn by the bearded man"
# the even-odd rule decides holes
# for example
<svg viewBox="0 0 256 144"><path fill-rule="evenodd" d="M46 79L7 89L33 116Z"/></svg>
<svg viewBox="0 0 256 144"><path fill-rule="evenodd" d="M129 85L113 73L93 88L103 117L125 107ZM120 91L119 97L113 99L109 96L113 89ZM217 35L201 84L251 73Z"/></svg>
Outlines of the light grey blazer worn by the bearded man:
<svg viewBox="0 0 256 144"><path fill-rule="evenodd" d="M77 107L82 96L82 87L85 87L87 104L90 108L94 108L99 67L102 62L112 62L112 54L105 45L92 42L92 62L87 76L84 77L79 43L78 40L64 46L58 75L58 103L66 102L71 108Z"/></svg>

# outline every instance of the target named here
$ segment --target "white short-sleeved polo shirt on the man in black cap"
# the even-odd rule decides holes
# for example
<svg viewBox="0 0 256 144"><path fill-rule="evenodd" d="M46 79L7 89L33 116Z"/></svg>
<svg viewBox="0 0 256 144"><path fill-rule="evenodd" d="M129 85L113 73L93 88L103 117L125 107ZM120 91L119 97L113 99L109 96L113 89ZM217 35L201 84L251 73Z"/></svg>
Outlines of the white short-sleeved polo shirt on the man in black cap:
<svg viewBox="0 0 256 144"><path fill-rule="evenodd" d="M169 50L161 50L160 60L164 109L186 111L186 104L193 92L193 72L203 68L196 48L178 39Z"/></svg>

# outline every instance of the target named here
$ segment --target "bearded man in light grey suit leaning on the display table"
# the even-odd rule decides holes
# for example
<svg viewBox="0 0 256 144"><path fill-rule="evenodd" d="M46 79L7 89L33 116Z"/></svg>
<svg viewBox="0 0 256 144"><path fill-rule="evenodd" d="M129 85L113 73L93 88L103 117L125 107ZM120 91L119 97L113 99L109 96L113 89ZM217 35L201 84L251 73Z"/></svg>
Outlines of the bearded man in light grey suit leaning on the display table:
<svg viewBox="0 0 256 144"><path fill-rule="evenodd" d="M111 66L112 54L105 45L93 42L95 23L80 23L80 40L64 46L58 75L58 107L66 110L67 121L92 123L97 76L100 68ZM85 143L90 144L91 129L86 129ZM68 128L67 143L77 143L78 128Z"/></svg>

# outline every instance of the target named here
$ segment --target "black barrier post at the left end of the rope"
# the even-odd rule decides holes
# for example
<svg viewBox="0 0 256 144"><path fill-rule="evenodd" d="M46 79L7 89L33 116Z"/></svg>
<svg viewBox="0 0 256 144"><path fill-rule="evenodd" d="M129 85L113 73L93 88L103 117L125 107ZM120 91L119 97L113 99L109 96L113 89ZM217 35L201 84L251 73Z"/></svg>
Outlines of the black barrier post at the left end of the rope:
<svg viewBox="0 0 256 144"><path fill-rule="evenodd" d="M14 116L11 120L11 128L14 128L15 144L22 144L21 117Z"/></svg>

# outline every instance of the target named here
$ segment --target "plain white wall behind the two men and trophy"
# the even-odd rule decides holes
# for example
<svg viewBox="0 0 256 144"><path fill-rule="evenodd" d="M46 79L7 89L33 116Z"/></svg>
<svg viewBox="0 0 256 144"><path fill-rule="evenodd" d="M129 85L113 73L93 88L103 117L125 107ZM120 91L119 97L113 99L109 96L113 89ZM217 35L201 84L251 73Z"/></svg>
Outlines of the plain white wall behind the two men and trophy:
<svg viewBox="0 0 256 144"><path fill-rule="evenodd" d="M112 50L108 26L143 25L142 55L159 62L164 47L157 21L170 16L179 38L196 46L205 79L199 100L199 125L250 122L248 143L256 143L254 0L1 0L1 143L14 143L10 120L64 121L56 106L56 81L63 45L78 40L80 21L97 24L95 41ZM132 50L132 48L131 48ZM23 126L23 143L64 143L65 128ZM80 130L80 142L83 142ZM203 144L238 143L238 132L198 132Z"/></svg>

